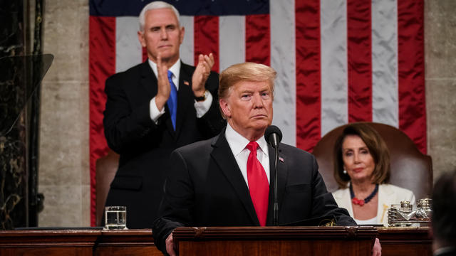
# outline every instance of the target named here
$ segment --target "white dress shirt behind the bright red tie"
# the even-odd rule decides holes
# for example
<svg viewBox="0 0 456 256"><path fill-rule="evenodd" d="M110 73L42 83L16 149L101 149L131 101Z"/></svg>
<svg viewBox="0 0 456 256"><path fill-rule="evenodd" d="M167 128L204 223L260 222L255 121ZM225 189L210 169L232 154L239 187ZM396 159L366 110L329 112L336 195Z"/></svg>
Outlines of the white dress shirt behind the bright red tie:
<svg viewBox="0 0 456 256"><path fill-rule="evenodd" d="M247 159L249 159L250 150L246 148L247 144L249 144L249 140L242 137L241 134L234 131L234 129L227 124L227 130L225 131L225 137L227 138L227 142L229 144L229 148L233 152L234 158L237 161L237 165L239 169L241 169L242 176L244 177L245 183L247 183L247 187L249 186L249 181L247 179ZM257 159L263 166L264 171L266 171L266 176L268 178L269 183L269 149L266 139L261 136L257 140L259 145L257 149Z"/></svg>

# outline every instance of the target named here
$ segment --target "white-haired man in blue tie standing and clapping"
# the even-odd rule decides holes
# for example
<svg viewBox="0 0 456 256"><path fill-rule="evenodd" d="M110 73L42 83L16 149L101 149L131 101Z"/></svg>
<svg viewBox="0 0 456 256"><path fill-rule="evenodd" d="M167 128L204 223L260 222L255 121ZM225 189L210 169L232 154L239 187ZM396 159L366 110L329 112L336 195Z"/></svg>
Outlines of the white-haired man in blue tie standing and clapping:
<svg viewBox="0 0 456 256"><path fill-rule="evenodd" d="M138 31L147 61L106 80L105 137L120 160L105 205L127 206L128 228L151 228L171 151L224 127L214 58L199 55L196 68L182 63L184 32L174 6L147 4Z"/></svg>

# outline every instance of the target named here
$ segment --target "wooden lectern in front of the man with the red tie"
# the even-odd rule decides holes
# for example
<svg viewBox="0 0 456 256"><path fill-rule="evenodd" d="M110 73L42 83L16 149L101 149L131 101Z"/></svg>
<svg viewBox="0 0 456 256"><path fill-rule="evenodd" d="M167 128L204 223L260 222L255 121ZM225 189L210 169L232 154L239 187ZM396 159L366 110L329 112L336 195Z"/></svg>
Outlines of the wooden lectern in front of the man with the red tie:
<svg viewBox="0 0 456 256"><path fill-rule="evenodd" d="M187 255L371 255L373 227L177 228L175 250Z"/></svg>

